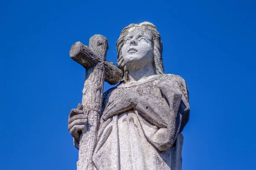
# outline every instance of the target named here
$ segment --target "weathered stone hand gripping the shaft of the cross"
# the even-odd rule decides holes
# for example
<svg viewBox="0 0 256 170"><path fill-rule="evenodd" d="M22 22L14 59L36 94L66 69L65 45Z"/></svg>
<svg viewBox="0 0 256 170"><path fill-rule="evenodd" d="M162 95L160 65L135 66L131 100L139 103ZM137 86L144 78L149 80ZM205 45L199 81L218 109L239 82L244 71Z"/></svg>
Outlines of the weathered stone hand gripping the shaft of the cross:
<svg viewBox="0 0 256 170"><path fill-rule="evenodd" d="M86 128L87 123L87 115L82 110L83 106L79 103L76 109L70 111L68 117L68 130L77 141L80 141L81 130Z"/></svg>

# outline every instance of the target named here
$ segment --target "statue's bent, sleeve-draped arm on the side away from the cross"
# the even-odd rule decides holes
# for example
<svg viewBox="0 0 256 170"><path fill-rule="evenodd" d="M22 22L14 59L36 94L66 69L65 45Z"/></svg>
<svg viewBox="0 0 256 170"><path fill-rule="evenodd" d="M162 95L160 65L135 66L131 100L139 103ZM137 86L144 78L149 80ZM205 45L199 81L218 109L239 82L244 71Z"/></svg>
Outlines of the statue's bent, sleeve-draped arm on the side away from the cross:
<svg viewBox="0 0 256 170"><path fill-rule="evenodd" d="M159 84L169 104L167 127L162 127L151 137L151 142L160 151L171 147L177 135L189 120L189 101L186 82L179 76L170 77Z"/></svg>

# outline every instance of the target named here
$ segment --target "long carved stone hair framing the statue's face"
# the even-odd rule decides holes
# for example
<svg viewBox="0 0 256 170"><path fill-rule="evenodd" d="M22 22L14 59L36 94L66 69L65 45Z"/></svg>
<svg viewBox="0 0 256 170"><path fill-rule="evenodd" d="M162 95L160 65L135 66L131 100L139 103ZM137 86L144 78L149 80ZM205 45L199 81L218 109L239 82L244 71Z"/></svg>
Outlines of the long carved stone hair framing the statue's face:
<svg viewBox="0 0 256 170"><path fill-rule="evenodd" d="M121 34L119 39L116 42L116 48L117 48L117 67L123 71L123 80L127 82L129 80L128 70L125 66L124 59L122 57L122 46L125 42L125 36L132 30L132 28L135 27L143 27L145 31L151 31L153 35L153 49L154 49L154 70L156 74L164 74L163 69L163 45L161 41L161 37L159 32L157 31L156 26L154 26L151 23L143 22L140 24L130 24L129 26L125 27Z"/></svg>

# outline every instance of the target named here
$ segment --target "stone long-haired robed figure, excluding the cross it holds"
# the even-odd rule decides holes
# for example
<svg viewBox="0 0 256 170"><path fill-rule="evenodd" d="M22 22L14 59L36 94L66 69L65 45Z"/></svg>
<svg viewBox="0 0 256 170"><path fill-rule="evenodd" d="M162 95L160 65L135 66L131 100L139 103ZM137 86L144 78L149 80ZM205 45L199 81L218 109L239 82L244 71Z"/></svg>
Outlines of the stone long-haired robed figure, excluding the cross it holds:
<svg viewBox="0 0 256 170"><path fill-rule="evenodd" d="M162 41L152 23L125 27L116 48L123 77L103 94L93 169L181 170L181 132L190 111L186 82L164 74ZM79 144L79 128L73 129L86 119L79 109L72 114L69 130Z"/></svg>

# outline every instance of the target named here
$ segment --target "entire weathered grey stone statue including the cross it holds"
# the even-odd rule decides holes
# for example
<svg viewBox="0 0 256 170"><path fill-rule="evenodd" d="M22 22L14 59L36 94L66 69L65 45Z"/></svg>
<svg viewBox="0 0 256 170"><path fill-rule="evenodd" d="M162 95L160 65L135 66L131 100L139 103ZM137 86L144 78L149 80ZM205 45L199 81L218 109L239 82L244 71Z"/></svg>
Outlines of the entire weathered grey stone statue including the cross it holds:
<svg viewBox="0 0 256 170"><path fill-rule="evenodd" d="M82 104L68 120L79 149L78 170L181 170L188 89L182 77L164 74L157 28L143 22L122 30L116 42L121 71L105 61L107 40L91 39L89 47L76 42L70 51L88 72ZM120 83L102 95L104 79Z"/></svg>

